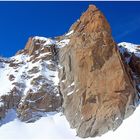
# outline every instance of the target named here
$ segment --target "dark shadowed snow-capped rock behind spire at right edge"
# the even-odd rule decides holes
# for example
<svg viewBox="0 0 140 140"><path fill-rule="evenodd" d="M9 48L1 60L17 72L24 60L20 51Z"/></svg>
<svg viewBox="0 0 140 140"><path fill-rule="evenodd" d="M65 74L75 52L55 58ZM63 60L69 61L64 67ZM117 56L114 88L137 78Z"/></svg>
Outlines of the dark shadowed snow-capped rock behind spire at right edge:
<svg viewBox="0 0 140 140"><path fill-rule="evenodd" d="M118 49L121 54L122 60L129 68L129 73L135 82L137 89L137 100L140 98L140 46L132 43L121 42L118 44Z"/></svg>

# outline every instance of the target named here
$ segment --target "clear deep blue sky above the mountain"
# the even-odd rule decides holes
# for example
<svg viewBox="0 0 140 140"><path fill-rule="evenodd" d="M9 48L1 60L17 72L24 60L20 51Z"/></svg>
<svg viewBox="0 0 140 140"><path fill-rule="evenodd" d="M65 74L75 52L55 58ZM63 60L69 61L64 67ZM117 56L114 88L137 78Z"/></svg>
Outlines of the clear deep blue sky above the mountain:
<svg viewBox="0 0 140 140"><path fill-rule="evenodd" d="M89 4L104 13L116 42L140 44L140 2L0 2L0 55L14 55L30 36L66 33Z"/></svg>

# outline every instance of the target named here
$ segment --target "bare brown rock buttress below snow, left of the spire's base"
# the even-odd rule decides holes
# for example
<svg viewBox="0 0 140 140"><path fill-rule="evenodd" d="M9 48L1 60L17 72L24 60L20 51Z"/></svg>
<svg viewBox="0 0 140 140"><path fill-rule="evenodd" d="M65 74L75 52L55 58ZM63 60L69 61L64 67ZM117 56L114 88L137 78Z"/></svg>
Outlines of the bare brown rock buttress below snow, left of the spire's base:
<svg viewBox="0 0 140 140"><path fill-rule="evenodd" d="M61 97L52 93L29 92L22 98L18 107L18 117L22 121L32 122L40 118L41 113L58 111L61 106Z"/></svg>

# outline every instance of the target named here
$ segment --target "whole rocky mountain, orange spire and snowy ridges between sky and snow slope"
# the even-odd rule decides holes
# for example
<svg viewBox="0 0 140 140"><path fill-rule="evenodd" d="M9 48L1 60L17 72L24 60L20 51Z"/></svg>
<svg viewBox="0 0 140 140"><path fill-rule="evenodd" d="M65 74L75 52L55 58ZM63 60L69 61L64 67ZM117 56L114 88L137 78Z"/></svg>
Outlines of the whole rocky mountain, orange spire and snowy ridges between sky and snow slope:
<svg viewBox="0 0 140 140"><path fill-rule="evenodd" d="M67 34L30 37L15 56L0 58L1 127L13 112L28 123L62 112L80 137L115 131L139 104L139 49L117 45L94 5Z"/></svg>

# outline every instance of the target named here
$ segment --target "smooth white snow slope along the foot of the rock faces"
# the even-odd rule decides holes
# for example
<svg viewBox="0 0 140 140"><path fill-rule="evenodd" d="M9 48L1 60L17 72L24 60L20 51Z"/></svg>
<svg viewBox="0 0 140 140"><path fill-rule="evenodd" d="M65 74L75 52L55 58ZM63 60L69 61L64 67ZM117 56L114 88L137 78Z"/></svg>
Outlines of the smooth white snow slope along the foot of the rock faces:
<svg viewBox="0 0 140 140"><path fill-rule="evenodd" d="M49 115L49 114L48 114ZM102 137L87 138L86 140L140 140L140 106L134 114L124 120L115 131L108 132ZM76 136L65 116L60 113L42 117L35 123L20 122L17 118L0 127L1 140L51 140L51 139L82 139Z"/></svg>

